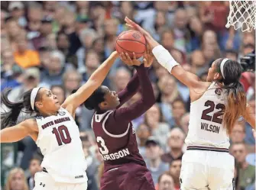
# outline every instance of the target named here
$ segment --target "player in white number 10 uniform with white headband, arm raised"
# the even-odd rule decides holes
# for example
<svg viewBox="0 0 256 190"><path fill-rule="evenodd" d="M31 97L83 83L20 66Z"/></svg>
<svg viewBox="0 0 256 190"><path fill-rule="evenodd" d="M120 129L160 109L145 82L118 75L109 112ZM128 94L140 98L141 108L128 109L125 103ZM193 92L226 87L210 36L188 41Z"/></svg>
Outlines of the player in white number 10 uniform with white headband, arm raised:
<svg viewBox="0 0 256 190"><path fill-rule="evenodd" d="M10 109L2 114L1 143L12 143L30 136L44 155L42 172L35 175L34 190L86 190L86 161L79 129L74 121L76 108L102 84L118 53L112 53L92 74L88 82L60 105L49 89L34 88L24 93L23 101L8 100L10 89L2 93L2 102ZM16 124L22 111L36 113ZM13 126L14 125L14 126ZM12 126L12 127L11 127Z"/></svg>

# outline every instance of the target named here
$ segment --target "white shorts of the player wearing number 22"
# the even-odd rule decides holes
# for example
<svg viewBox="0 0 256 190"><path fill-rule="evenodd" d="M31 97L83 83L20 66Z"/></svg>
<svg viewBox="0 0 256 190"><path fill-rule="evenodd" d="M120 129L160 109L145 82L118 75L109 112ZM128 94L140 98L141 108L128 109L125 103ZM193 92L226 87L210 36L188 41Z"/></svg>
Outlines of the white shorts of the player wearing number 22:
<svg viewBox="0 0 256 190"><path fill-rule="evenodd" d="M233 190L235 159L225 152L186 150L180 171L181 190Z"/></svg>

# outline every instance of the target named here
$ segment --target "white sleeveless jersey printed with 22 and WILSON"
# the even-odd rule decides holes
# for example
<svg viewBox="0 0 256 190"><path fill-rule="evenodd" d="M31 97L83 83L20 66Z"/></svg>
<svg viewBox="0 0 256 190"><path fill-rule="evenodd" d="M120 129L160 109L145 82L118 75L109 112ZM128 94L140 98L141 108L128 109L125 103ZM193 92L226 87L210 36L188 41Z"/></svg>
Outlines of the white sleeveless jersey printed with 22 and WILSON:
<svg viewBox="0 0 256 190"><path fill-rule="evenodd" d="M229 138L222 126L225 108L224 90L213 82L206 92L190 104L189 132L185 143L188 146L228 148Z"/></svg>

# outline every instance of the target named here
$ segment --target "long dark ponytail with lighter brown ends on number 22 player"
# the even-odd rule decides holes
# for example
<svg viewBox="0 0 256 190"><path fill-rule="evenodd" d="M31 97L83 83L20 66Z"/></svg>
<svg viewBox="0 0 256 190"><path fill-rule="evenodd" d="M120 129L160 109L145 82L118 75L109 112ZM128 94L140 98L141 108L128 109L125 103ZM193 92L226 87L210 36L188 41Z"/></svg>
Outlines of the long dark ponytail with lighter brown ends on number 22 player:
<svg viewBox="0 0 256 190"><path fill-rule="evenodd" d="M224 59L219 59L216 62L217 72L221 75L222 60ZM239 82L242 72L241 65L235 60L228 60L223 67L223 72L225 79L222 76L222 79L217 82L222 83L222 89L226 90L227 99L223 114L223 126L226 127L228 134L231 134L235 122L245 113L246 95L243 85Z"/></svg>

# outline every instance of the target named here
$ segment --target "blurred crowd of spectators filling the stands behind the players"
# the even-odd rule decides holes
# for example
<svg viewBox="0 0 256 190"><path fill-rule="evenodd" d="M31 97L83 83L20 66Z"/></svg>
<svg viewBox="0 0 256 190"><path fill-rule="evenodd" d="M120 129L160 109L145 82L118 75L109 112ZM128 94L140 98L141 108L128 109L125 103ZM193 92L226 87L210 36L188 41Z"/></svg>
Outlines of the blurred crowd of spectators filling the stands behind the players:
<svg viewBox="0 0 256 190"><path fill-rule="evenodd" d="M255 34L225 28L228 2L1 2L1 91L11 87L11 101L36 86L45 86L60 103L85 83L115 50L118 34L127 30L125 16L149 31L184 69L206 80L213 60L239 60L255 47ZM120 92L134 72L117 60L103 82ZM190 119L190 92L156 61L150 70L157 103L133 121L138 147L157 190L177 190L184 139ZM243 73L248 104L255 108L255 74ZM134 95L125 106L138 100ZM4 108L2 108L2 111ZM92 134L92 111L78 108L83 150L88 163L89 190L99 189L102 156ZM20 120L31 115L22 114ZM245 121L230 137L235 156L235 189L252 190L255 183L255 140ZM28 190L41 170L43 156L27 137L2 144L2 187ZM220 163L222 164L222 163Z"/></svg>

